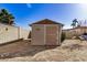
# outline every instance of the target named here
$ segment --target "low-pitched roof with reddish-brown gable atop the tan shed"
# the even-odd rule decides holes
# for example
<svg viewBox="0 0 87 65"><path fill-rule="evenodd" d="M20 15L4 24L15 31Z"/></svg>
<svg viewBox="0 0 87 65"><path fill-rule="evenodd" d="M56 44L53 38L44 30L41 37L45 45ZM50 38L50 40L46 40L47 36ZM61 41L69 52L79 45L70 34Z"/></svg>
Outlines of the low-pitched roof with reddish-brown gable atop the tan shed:
<svg viewBox="0 0 87 65"><path fill-rule="evenodd" d="M52 21L52 20L48 20L48 19L44 19L44 20L34 22L34 23L32 23L32 24L61 24L62 26L64 25L64 24L62 24L62 23L58 23L58 22L55 22L55 21ZM30 24L30 26L31 26L32 24Z"/></svg>

